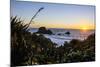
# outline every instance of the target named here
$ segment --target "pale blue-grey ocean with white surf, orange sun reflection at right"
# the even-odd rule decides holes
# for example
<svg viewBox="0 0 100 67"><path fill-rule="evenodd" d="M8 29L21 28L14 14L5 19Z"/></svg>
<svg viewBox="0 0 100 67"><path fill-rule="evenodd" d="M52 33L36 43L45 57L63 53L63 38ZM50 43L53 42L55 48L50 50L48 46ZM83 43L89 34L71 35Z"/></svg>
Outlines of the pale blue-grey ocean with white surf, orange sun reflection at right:
<svg viewBox="0 0 100 67"><path fill-rule="evenodd" d="M53 43L63 45L65 41L70 42L72 39L84 40L89 35L95 33L95 30L78 30L78 29L58 29L58 28L50 28L53 32L52 35L44 34L46 38L49 38ZM29 30L31 33L37 32L38 28L31 28ZM70 34L65 34L66 32L70 32Z"/></svg>

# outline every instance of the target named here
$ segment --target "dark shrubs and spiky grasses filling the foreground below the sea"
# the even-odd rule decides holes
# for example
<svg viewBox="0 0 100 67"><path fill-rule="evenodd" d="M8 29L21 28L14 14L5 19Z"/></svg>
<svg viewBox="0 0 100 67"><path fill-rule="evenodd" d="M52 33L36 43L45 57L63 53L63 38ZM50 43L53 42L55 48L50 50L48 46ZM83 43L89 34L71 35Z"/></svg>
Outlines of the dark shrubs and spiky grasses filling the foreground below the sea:
<svg viewBox="0 0 100 67"><path fill-rule="evenodd" d="M41 27L38 32L44 31L46 28ZM86 61L95 61L95 34L84 41L73 39L57 46L43 34L30 33L28 24L11 17L11 66Z"/></svg>

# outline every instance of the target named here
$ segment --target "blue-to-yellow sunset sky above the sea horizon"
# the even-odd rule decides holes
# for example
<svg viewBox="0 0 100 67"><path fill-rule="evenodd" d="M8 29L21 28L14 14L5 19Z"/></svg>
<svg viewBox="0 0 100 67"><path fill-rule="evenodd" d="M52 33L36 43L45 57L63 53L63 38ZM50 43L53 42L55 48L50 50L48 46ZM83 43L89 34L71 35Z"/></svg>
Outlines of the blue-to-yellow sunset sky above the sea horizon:
<svg viewBox="0 0 100 67"><path fill-rule="evenodd" d="M54 4L39 2L20 2L11 0L11 16L18 16L29 23L40 7L44 9L32 22L32 28L94 29L95 6Z"/></svg>

